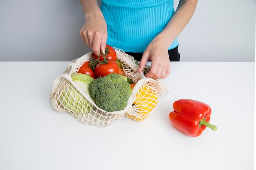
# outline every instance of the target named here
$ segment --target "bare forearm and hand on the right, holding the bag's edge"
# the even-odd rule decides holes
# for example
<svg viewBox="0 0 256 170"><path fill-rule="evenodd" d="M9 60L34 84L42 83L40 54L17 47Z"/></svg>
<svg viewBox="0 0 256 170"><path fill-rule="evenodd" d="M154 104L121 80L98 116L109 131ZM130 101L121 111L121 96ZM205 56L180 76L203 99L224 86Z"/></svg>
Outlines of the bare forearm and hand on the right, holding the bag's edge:
<svg viewBox="0 0 256 170"><path fill-rule="evenodd" d="M149 59L152 60L150 71L146 73L146 77L159 79L166 78L170 74L168 48L173 40L182 32L186 24L188 24L195 11L197 2L198 0L180 0L177 10L164 30L150 42L143 53L139 65L139 71L142 71L146 62Z"/></svg>

